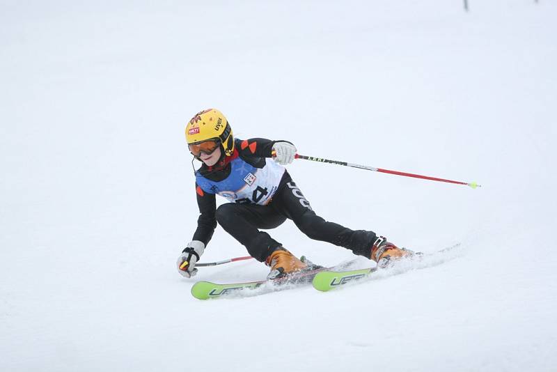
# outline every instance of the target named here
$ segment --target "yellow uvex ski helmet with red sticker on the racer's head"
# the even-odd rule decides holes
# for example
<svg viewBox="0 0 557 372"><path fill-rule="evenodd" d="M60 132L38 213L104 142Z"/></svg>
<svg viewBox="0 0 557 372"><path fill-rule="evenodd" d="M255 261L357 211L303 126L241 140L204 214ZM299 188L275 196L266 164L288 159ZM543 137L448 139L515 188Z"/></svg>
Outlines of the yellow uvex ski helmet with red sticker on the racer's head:
<svg viewBox="0 0 557 372"><path fill-rule="evenodd" d="M210 139L218 140L226 156L234 151L232 128L217 109L207 109L195 114L186 125L186 141L188 145L199 144Z"/></svg>

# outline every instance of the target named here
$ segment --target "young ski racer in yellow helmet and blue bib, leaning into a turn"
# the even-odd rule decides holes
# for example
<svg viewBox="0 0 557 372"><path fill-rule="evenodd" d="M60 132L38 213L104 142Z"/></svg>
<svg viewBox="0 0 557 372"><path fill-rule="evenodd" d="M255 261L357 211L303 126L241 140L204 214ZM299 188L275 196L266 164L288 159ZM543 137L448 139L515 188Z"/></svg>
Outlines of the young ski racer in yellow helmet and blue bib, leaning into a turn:
<svg viewBox="0 0 557 372"><path fill-rule="evenodd" d="M196 274L196 262L217 222L251 256L271 268L268 279L315 267L300 261L268 233L259 231L276 228L287 218L309 238L345 247L381 266L391 258L413 254L372 231L350 230L315 214L283 167L295 159L296 147L289 141L235 139L230 124L216 109L201 111L191 118L186 125L186 140L191 154L203 164L195 171L201 215L194 237L178 258L182 276ZM216 194L231 203L216 208Z"/></svg>

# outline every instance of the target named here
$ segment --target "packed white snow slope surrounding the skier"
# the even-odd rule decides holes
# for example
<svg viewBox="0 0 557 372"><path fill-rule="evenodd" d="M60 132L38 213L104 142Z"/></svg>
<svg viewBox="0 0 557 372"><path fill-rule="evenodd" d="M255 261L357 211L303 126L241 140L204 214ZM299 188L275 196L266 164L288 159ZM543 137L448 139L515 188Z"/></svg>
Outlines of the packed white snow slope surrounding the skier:
<svg viewBox="0 0 557 372"><path fill-rule="evenodd" d="M2 1L0 370L555 371L557 4L469 3ZM288 166L324 218L459 254L195 300L195 280L268 270L175 270L198 215L184 125L209 107L238 138L477 181ZM203 261L245 254L218 227Z"/></svg>

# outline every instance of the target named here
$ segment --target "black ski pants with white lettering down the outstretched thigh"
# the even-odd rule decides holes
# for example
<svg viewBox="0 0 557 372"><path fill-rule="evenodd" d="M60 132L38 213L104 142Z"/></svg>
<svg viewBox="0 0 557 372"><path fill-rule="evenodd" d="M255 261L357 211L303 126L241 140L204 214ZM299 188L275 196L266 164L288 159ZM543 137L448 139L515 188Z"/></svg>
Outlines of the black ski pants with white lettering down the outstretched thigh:
<svg viewBox="0 0 557 372"><path fill-rule="evenodd" d="M226 203L217 209L217 222L244 245L251 256L261 262L276 248L281 247L281 243L259 229L276 228L287 218L308 238L345 247L354 254L370 258L371 245L377 238L375 233L354 231L325 221L315 214L288 173L285 173L285 177L287 178L283 178L281 186L267 206Z"/></svg>

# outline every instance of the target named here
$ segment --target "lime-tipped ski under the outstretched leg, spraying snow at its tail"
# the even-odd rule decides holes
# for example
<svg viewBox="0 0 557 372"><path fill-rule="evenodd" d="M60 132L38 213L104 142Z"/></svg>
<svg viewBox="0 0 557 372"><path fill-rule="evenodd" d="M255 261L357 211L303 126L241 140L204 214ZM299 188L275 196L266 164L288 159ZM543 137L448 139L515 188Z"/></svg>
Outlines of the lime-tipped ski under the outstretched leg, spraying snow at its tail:
<svg viewBox="0 0 557 372"><path fill-rule="evenodd" d="M393 274L402 274L402 272L407 272L409 270L439 265L439 263L443 263L446 260L436 261L435 258L438 258L442 254L446 254L448 251L451 251L459 246L460 243L430 254L416 254L416 256L411 258L395 261L384 269L375 266L373 268L347 271L322 270L313 277L313 288L321 290L322 292L327 292L328 290L344 286L345 284L349 284L354 281L363 281L363 279L368 278L370 274L379 270L385 272L391 270ZM415 265L416 263L417 265ZM425 265L420 265L420 263L425 263Z"/></svg>

